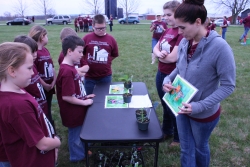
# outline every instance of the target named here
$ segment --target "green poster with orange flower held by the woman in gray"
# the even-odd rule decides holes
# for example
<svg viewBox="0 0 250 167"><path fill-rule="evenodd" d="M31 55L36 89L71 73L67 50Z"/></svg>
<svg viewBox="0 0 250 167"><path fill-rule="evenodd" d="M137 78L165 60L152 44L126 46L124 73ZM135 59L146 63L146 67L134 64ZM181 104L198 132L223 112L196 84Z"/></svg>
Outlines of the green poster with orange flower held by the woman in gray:
<svg viewBox="0 0 250 167"><path fill-rule="evenodd" d="M182 103L188 103L197 93L198 89L191 85L188 81L177 75L172 85L175 87L169 93L165 93L163 100L172 110L175 116L178 115L180 108L183 107Z"/></svg>

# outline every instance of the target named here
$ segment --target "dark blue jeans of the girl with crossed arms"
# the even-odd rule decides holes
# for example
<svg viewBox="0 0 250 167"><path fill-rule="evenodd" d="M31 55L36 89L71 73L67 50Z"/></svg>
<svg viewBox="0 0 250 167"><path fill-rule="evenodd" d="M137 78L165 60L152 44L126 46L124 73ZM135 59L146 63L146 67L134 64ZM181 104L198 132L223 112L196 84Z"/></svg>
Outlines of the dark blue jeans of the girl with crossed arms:
<svg viewBox="0 0 250 167"><path fill-rule="evenodd" d="M161 100L163 107L163 122L162 122L162 131L165 135L174 135L174 141L179 142L178 129L176 125L176 117L172 113L171 109L167 104L162 100L165 92L162 90L162 83L167 74L164 74L158 70L156 74L156 89L158 96Z"/></svg>

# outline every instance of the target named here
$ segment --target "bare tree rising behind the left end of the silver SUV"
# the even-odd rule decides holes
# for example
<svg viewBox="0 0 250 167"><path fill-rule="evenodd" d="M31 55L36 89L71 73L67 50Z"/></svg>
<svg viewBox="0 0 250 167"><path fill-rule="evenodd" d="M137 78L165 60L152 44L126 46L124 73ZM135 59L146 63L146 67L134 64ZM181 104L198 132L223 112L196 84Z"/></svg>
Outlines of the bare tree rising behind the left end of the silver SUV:
<svg viewBox="0 0 250 167"><path fill-rule="evenodd" d="M36 0L34 1L34 6L38 12L42 13L45 17L45 21L51 13L55 13L53 9L53 0ZM47 21L46 21L47 24Z"/></svg>

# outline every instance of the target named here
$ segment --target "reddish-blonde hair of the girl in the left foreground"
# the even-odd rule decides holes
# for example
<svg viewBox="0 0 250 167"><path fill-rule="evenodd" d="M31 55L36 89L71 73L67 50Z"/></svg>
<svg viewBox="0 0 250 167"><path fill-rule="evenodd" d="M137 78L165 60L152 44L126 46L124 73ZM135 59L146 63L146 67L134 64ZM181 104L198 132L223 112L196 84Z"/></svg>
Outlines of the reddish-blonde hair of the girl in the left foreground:
<svg viewBox="0 0 250 167"><path fill-rule="evenodd" d="M5 42L0 44L0 81L6 79L9 67L19 68L25 62L27 54L31 54L28 45L19 42Z"/></svg>

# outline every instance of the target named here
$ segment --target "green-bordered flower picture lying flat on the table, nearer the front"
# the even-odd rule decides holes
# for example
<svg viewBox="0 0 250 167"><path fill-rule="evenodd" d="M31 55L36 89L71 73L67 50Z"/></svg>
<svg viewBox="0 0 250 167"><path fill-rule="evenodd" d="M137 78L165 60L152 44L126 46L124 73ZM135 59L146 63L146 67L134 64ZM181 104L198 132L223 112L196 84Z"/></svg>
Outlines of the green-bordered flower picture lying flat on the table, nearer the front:
<svg viewBox="0 0 250 167"><path fill-rule="evenodd" d="M106 96L105 108L128 108L128 103L123 102L122 95L121 96Z"/></svg>

